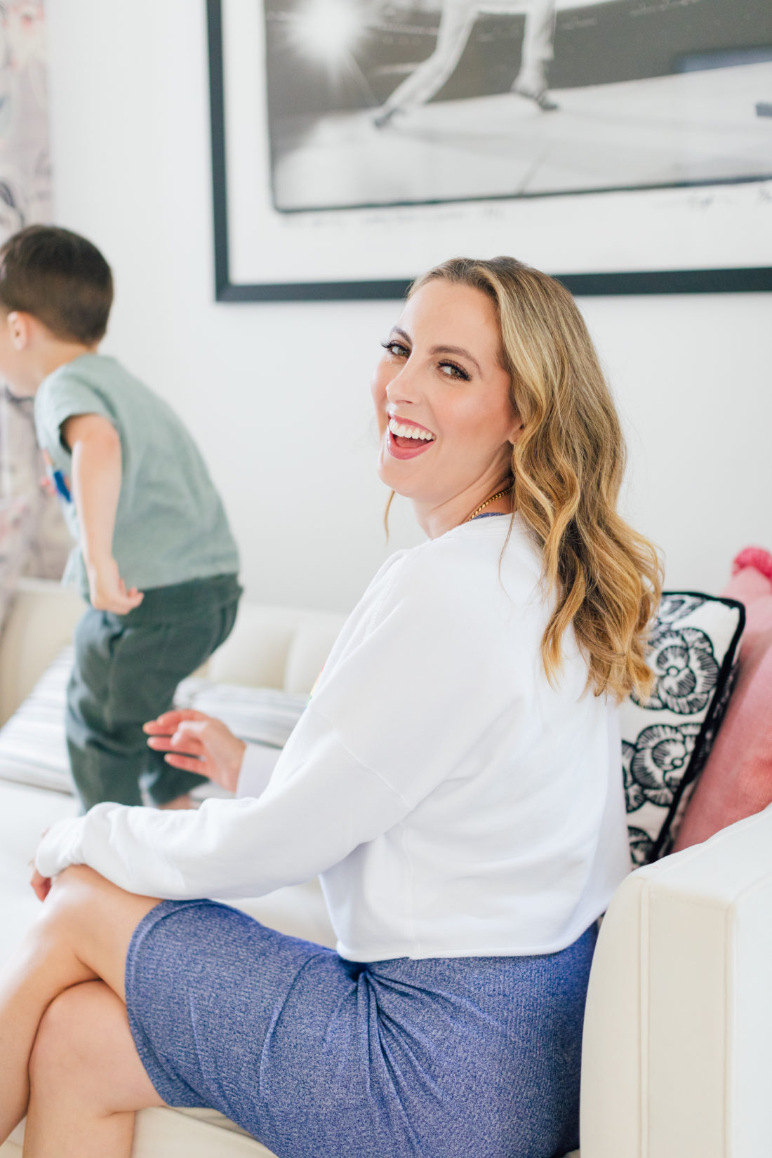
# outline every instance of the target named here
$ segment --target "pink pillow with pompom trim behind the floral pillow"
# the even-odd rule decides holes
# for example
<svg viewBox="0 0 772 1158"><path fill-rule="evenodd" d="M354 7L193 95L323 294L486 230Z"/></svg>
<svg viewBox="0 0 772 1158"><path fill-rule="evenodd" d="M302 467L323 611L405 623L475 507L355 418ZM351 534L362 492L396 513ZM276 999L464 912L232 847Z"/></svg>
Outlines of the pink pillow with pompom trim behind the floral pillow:
<svg viewBox="0 0 772 1158"><path fill-rule="evenodd" d="M742 551L721 594L745 604L737 682L674 852L772 804L772 555Z"/></svg>

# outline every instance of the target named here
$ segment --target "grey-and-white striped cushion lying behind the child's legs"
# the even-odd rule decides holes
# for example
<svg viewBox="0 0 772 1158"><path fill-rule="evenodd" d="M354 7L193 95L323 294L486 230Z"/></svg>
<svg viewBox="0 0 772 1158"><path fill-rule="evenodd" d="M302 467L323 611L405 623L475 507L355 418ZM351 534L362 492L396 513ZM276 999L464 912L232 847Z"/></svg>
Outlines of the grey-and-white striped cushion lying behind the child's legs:
<svg viewBox="0 0 772 1158"><path fill-rule="evenodd" d="M0 728L0 779L72 792L65 742L65 698L73 665L66 647ZM282 748L308 696L273 688L244 688L191 676L177 688L178 708L215 716L242 740Z"/></svg>

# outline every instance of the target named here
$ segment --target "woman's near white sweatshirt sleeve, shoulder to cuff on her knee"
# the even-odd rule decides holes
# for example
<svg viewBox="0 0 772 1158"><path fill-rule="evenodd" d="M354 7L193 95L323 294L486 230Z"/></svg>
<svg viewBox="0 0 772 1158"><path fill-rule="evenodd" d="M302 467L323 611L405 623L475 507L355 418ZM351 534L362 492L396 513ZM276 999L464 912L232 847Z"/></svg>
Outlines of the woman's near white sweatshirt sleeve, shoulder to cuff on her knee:
<svg viewBox="0 0 772 1158"><path fill-rule="evenodd" d="M397 824L513 703L491 661L490 599L453 559L438 562L395 569L366 628L344 630L257 799L197 812L97 805L51 828L39 872L88 864L150 896L260 896Z"/></svg>

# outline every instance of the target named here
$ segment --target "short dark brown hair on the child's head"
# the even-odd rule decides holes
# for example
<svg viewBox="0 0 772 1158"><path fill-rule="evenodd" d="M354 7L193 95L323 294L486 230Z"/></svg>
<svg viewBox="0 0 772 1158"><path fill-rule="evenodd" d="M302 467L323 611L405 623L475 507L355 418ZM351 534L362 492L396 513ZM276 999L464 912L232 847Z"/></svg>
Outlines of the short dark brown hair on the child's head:
<svg viewBox="0 0 772 1158"><path fill-rule="evenodd" d="M30 225L0 249L0 306L58 338L95 345L112 306L112 273L96 245L69 229Z"/></svg>

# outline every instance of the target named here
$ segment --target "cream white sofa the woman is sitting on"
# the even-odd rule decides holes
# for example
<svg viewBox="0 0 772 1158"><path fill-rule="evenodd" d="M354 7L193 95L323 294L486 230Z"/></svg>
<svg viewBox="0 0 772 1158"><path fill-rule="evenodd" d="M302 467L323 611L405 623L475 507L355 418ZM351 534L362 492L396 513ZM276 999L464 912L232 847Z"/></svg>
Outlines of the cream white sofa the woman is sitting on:
<svg viewBox="0 0 772 1158"><path fill-rule="evenodd" d="M69 593L23 585L0 640L0 723L68 640L79 614ZM326 613L244 604L207 674L307 691L340 622ZM67 796L0 780L0 965L37 908L27 884L37 837L73 811ZM282 931L332 944L316 882L243 908ZM770 961L772 809L627 879L603 922L590 979L582 1158L772 1153ZM21 1155L22 1129L0 1146L0 1158ZM183 1155L270 1158L211 1111L138 1115L134 1158Z"/></svg>

